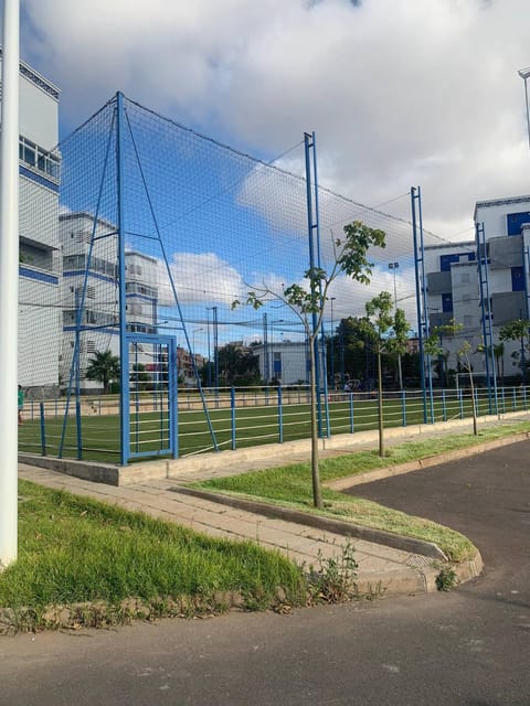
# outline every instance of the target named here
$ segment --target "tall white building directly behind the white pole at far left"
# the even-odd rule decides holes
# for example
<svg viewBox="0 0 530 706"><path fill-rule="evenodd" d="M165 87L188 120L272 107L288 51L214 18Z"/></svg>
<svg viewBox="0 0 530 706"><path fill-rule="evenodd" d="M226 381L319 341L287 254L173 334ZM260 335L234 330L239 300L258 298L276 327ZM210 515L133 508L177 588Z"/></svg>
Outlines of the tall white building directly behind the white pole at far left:
<svg viewBox="0 0 530 706"><path fill-rule="evenodd" d="M39 398L59 391L59 88L20 63L19 383Z"/></svg>

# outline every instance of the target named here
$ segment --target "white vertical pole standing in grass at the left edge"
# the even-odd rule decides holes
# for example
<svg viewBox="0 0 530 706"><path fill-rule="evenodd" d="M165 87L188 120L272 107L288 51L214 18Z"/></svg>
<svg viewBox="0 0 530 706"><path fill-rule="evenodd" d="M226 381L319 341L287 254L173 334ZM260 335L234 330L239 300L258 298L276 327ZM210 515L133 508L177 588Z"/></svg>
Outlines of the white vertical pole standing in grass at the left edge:
<svg viewBox="0 0 530 706"><path fill-rule="evenodd" d="M19 338L19 0L3 2L0 138L0 566L17 559Z"/></svg>

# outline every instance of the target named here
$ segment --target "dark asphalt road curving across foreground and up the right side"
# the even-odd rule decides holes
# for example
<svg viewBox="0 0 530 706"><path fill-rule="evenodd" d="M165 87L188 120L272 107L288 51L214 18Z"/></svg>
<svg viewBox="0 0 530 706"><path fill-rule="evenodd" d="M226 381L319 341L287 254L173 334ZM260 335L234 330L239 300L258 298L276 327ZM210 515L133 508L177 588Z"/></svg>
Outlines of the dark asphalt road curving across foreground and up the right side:
<svg viewBox="0 0 530 706"><path fill-rule="evenodd" d="M530 442L356 486L460 530L449 593L0 639L0 704L529 706Z"/></svg>

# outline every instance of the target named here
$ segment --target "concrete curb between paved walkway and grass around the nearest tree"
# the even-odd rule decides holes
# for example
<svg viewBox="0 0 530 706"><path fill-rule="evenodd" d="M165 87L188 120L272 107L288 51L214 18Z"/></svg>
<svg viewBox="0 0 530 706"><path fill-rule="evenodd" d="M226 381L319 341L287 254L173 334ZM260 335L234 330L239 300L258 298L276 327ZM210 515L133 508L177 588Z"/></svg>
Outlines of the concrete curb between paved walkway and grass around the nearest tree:
<svg viewBox="0 0 530 706"><path fill-rule="evenodd" d="M371 527L363 527L362 525L356 525L353 523L344 522L341 520L322 517L321 515L314 515L301 510L295 510L293 507L284 507L269 503L257 502L254 500L247 500L246 498L235 498L234 495L213 493L211 491L199 490L197 488L173 485L169 490L183 495L191 495L192 498L209 500L210 502L219 503L221 505L227 505L230 507L245 510L246 512L257 513L261 515L265 515L266 517L287 520L299 525L307 525L309 527L315 527L325 532L333 532L335 534L340 534L346 537L351 536L357 537L358 539L364 539L365 542L382 544L394 549L402 549L403 552L410 552L411 554L420 554L421 556L426 556L431 559L437 559L438 561L447 561L447 557L436 544L426 542L424 539L404 537L402 535L393 534L391 532L384 532L382 530L373 530Z"/></svg>

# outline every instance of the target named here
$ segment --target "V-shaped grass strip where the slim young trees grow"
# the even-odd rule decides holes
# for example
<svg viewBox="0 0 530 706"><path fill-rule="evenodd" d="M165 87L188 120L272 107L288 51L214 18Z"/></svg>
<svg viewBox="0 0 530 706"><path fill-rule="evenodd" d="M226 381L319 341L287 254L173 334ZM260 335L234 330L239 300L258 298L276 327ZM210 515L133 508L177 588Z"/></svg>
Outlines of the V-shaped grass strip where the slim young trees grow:
<svg viewBox="0 0 530 706"><path fill-rule="evenodd" d="M530 424L497 425L483 429L478 437L473 434L441 436L420 441L406 441L392 447L385 458L377 451L359 451L320 462L322 482L357 475L378 468L398 466L406 461L436 456L448 450L468 448L488 440L529 431ZM296 463L283 468L219 478L201 483L197 488L237 493L280 505L303 509L307 512L339 516L365 527L383 530L396 534L417 537L437 544L453 561L473 557L473 543L458 532L430 520L413 517L396 510L352 495L346 495L329 488L322 488L326 504L324 511L312 507L312 489L309 463Z"/></svg>

